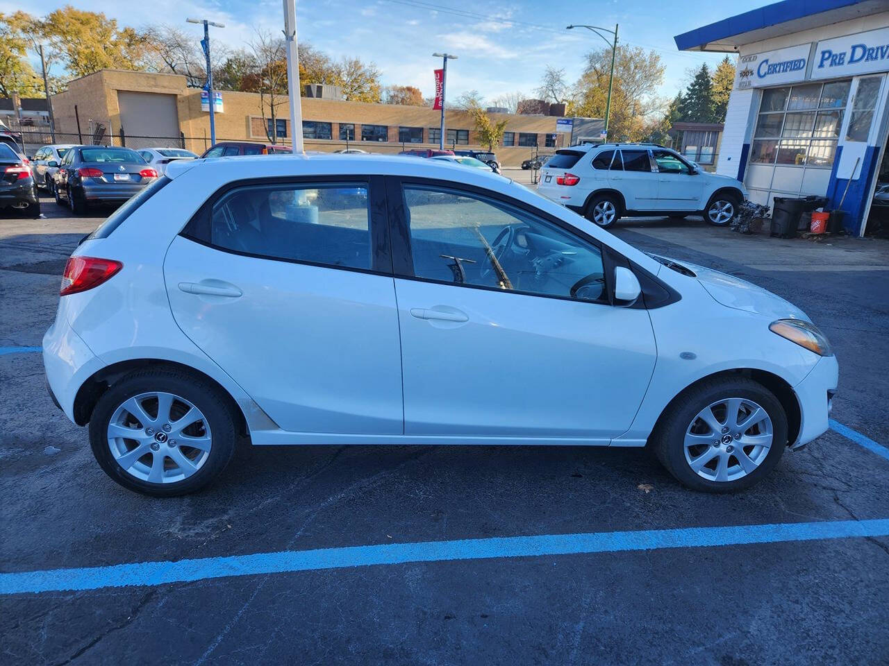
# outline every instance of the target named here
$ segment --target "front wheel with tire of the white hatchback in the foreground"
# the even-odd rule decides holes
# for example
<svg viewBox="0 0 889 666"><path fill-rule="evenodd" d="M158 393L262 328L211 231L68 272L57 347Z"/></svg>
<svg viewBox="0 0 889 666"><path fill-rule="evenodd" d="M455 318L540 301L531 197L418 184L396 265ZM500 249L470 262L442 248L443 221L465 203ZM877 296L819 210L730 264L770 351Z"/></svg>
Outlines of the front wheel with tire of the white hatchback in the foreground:
<svg viewBox="0 0 889 666"><path fill-rule="evenodd" d="M725 493L749 488L771 472L787 445L787 432L787 415L772 392L745 377L725 377L673 400L652 445L685 486Z"/></svg>

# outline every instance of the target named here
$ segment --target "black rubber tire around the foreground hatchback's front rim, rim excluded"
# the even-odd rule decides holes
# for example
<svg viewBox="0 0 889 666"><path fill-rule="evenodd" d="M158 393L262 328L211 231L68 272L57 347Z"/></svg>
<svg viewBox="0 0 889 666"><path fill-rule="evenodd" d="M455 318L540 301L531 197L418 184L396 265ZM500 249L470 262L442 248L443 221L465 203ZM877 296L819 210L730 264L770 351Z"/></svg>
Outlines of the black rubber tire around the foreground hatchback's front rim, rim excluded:
<svg viewBox="0 0 889 666"><path fill-rule="evenodd" d="M685 433L702 409L730 397L753 400L765 409L772 420L772 446L759 466L740 479L704 479L693 471L685 458ZM773 392L746 377L716 377L693 386L670 402L652 433L651 444L661 464L687 488L709 493L731 493L749 488L771 472L787 447L787 437L787 415Z"/></svg>

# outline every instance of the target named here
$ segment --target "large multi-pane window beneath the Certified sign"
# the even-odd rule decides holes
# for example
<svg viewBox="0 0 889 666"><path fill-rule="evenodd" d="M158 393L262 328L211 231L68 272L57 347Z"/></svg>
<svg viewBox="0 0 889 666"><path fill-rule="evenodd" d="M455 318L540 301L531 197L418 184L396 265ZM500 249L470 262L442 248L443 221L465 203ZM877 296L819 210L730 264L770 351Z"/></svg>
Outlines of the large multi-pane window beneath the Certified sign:
<svg viewBox="0 0 889 666"><path fill-rule="evenodd" d="M846 79L763 91L750 146L750 163L831 168L851 86L852 81ZM853 110L853 118L854 114ZM866 123L869 130L870 123ZM865 135L861 140L866 139Z"/></svg>

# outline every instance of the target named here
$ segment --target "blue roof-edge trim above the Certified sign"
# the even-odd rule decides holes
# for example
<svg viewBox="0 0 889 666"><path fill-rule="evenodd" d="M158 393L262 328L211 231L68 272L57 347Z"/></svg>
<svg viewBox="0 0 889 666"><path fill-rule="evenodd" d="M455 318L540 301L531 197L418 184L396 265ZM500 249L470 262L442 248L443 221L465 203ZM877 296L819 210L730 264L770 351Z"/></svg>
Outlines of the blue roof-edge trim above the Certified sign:
<svg viewBox="0 0 889 666"><path fill-rule="evenodd" d="M728 37L787 23L791 20L804 19L807 16L829 12L867 0L782 0L780 3L767 4L765 7L750 10L731 16L728 19L710 23L708 26L695 28L673 37L679 51L688 51L718 42Z"/></svg>

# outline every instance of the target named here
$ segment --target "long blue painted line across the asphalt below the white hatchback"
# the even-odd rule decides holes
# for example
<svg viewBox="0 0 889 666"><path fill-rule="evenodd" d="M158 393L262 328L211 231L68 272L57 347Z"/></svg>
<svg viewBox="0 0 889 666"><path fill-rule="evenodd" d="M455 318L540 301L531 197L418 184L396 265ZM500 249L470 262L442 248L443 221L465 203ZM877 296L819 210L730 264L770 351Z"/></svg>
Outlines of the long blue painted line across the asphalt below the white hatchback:
<svg viewBox="0 0 889 666"><path fill-rule="evenodd" d="M504 536L456 541L383 543L368 546L322 548L311 551L261 552L228 557L138 562L108 567L23 571L0 574L0 594L153 586L231 576L284 574L408 562L651 551L869 536L889 536L889 519L832 520L727 527L681 527L569 535Z"/></svg>

